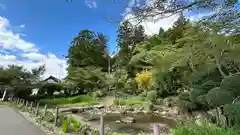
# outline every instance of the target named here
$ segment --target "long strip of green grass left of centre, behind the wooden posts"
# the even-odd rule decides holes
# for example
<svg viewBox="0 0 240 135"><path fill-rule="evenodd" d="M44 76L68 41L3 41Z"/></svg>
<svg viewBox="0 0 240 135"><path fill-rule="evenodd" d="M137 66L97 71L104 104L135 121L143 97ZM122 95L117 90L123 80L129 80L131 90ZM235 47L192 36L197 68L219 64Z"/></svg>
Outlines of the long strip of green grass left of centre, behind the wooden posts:
<svg viewBox="0 0 240 135"><path fill-rule="evenodd" d="M39 101L40 105L47 104L49 106L55 106L55 105L67 105L67 104L93 104L94 99L91 96L88 95L79 95L75 97L69 97L69 98L56 98L56 99L41 99Z"/></svg>

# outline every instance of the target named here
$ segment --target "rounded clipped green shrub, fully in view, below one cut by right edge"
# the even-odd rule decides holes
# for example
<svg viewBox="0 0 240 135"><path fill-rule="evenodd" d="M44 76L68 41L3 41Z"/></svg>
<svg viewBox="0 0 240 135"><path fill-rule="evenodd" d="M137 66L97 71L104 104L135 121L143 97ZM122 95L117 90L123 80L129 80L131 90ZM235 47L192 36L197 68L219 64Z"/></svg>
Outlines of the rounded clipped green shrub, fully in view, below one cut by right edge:
<svg viewBox="0 0 240 135"><path fill-rule="evenodd" d="M206 100L210 107L231 103L233 99L234 94L231 91L222 90L220 87L211 89L206 95Z"/></svg>

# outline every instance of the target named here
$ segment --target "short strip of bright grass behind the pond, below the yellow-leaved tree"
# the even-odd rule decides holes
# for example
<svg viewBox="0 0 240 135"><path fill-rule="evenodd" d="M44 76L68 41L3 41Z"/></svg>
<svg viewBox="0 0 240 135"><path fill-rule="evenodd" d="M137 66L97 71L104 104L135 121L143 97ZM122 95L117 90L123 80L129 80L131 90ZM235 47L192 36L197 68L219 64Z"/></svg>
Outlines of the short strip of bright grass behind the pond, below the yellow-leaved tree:
<svg viewBox="0 0 240 135"><path fill-rule="evenodd" d="M145 104L145 103L148 103L148 102L140 97L114 100L115 105L138 105L138 104Z"/></svg>

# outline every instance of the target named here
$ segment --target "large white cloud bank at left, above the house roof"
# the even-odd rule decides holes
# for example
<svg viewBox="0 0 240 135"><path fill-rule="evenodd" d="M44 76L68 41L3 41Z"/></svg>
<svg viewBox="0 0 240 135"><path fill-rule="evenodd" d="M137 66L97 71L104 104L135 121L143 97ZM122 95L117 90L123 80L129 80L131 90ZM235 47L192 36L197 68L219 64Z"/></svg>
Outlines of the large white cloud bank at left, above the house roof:
<svg viewBox="0 0 240 135"><path fill-rule="evenodd" d="M67 63L64 58L58 58L52 53L41 53L35 44L24 40L21 33L14 32L13 27L9 20L0 16L0 66L14 64L31 70L45 65L44 78L50 75L57 78L66 76Z"/></svg>

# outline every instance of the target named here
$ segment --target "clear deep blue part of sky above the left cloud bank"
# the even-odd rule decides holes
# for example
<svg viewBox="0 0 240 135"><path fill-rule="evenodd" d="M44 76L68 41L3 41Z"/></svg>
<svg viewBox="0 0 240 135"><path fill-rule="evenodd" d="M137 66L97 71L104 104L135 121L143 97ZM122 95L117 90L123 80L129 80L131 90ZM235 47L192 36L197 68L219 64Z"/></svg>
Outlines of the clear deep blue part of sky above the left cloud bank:
<svg viewBox="0 0 240 135"><path fill-rule="evenodd" d="M117 22L108 22L109 17L120 20L127 0L84 1L73 0L1 0L5 5L0 15L11 25L25 26L21 32L24 40L33 42L42 52L54 52L57 56L67 53L68 44L81 29L103 32L109 36L110 50L116 41ZM91 3L96 3L92 4Z"/></svg>

